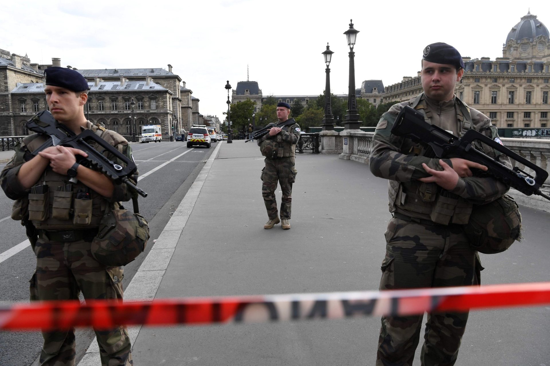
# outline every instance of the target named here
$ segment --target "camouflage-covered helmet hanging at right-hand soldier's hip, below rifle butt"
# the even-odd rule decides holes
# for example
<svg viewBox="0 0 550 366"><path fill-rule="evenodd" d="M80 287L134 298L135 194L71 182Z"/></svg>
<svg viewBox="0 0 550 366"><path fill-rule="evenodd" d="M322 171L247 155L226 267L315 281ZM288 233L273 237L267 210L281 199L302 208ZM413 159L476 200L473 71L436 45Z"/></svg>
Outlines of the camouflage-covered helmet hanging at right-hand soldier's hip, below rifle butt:
<svg viewBox="0 0 550 366"><path fill-rule="evenodd" d="M521 239L521 213L508 195L485 205L474 205L465 226L470 245L480 253L495 254L507 250Z"/></svg>

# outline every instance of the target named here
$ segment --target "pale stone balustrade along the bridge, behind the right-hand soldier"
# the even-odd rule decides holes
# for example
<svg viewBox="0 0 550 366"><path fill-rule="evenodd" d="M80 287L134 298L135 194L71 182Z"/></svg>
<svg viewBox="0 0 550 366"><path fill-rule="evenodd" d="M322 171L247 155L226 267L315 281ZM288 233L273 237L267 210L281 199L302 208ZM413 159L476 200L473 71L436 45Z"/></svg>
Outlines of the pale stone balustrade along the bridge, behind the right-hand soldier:
<svg viewBox="0 0 550 366"><path fill-rule="evenodd" d="M368 164L372 151L373 132L362 132L358 129L344 129L338 133L335 131L322 131L321 154L340 154L340 159L354 160ZM505 147L519 154L533 164L540 166L547 172L550 170L550 139L527 138L502 138ZM512 162L515 166L515 161ZM519 164L518 167L531 174L529 168ZM550 195L550 178L547 178L541 187L543 193ZM515 189L510 189L509 194L518 204L533 209L550 212L550 201L538 195L526 196Z"/></svg>

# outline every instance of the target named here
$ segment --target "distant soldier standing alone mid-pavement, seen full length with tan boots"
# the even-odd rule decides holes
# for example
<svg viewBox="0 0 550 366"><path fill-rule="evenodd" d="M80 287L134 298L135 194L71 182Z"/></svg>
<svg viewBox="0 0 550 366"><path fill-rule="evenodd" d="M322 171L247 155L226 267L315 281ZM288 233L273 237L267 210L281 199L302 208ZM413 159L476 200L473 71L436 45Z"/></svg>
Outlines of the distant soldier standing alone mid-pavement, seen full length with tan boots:
<svg viewBox="0 0 550 366"><path fill-rule="evenodd" d="M281 126L289 120L290 105L280 102L277 104L277 119L279 122L270 129L270 132L257 140L262 155L266 156L264 160L266 166L262 170L262 196L266 204L267 216L269 217L265 229L271 229L275 224L282 220L283 229L290 229L290 206L292 202L292 183L296 177L296 168L294 167L294 156L296 152L296 143L300 139L300 126L298 123ZM283 195L281 198L281 220L279 220L277 211L277 201L275 199L275 190L277 181L281 184Z"/></svg>

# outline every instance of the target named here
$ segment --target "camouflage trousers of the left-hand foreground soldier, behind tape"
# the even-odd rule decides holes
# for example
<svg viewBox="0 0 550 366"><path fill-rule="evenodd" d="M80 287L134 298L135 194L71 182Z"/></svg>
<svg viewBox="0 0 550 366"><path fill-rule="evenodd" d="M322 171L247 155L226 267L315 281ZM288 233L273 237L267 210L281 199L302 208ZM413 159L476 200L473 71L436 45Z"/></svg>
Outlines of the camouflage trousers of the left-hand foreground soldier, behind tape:
<svg viewBox="0 0 550 366"><path fill-rule="evenodd" d="M90 243L38 239L35 245L36 272L30 280L31 301L119 299L122 301L122 267L106 267L91 255ZM131 365L131 345L127 330L119 326L95 330L103 366ZM44 344L40 365L75 364L75 334L69 331L42 331Z"/></svg>

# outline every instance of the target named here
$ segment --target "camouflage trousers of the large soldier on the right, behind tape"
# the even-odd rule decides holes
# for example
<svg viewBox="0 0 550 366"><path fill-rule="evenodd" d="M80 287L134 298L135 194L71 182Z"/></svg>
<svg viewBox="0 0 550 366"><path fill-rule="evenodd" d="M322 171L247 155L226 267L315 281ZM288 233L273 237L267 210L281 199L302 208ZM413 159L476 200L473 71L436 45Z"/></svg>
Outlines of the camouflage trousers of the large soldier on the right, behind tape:
<svg viewBox="0 0 550 366"><path fill-rule="evenodd" d="M460 226L432 226L392 218L386 230L380 290L480 284L483 269ZM410 366L423 316L382 318L377 366ZM456 362L468 313L428 313L421 365Z"/></svg>

